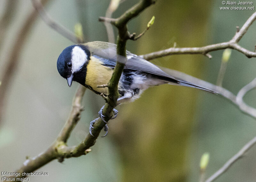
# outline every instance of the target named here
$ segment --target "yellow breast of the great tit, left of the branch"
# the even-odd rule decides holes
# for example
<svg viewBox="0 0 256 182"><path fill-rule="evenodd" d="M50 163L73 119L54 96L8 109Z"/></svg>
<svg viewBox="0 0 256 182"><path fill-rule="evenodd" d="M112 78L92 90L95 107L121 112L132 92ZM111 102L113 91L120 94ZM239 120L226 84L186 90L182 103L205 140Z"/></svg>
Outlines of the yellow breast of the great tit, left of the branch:
<svg viewBox="0 0 256 182"><path fill-rule="evenodd" d="M108 87L97 88L98 85L108 84L113 70L103 66L99 59L91 56L91 60L87 65L85 84L92 87L94 91L108 95Z"/></svg>

